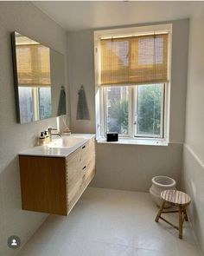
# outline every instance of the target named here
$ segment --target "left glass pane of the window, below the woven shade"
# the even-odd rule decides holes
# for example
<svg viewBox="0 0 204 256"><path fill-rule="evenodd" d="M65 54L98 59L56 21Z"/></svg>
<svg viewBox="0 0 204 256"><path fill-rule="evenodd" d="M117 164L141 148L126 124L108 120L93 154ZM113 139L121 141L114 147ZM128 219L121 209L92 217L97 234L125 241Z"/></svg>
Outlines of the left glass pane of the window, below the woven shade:
<svg viewBox="0 0 204 256"><path fill-rule="evenodd" d="M108 87L105 90L107 132L128 135L128 88Z"/></svg>

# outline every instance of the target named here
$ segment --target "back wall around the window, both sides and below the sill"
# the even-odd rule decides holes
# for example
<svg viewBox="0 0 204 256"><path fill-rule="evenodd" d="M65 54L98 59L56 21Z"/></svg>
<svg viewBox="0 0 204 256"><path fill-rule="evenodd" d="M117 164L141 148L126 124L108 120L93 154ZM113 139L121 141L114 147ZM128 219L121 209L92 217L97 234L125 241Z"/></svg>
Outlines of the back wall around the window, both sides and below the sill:
<svg viewBox="0 0 204 256"><path fill-rule="evenodd" d="M188 66L188 19L174 21L169 147L97 144L94 187L148 191L152 176L169 175L178 182L182 169L186 83ZM145 24L146 25L146 24ZM105 30L104 28L102 30ZM95 85L93 30L68 33L72 131L95 133ZM80 84L84 84L90 121L76 120Z"/></svg>

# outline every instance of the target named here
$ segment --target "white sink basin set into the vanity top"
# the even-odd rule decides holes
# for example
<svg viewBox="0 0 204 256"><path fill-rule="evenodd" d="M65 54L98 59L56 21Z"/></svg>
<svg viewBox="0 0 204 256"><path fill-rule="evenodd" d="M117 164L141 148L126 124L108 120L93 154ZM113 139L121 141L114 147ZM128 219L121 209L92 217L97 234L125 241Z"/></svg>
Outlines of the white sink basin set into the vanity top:
<svg viewBox="0 0 204 256"><path fill-rule="evenodd" d="M65 135L48 143L48 148L73 148L86 142L86 136Z"/></svg>

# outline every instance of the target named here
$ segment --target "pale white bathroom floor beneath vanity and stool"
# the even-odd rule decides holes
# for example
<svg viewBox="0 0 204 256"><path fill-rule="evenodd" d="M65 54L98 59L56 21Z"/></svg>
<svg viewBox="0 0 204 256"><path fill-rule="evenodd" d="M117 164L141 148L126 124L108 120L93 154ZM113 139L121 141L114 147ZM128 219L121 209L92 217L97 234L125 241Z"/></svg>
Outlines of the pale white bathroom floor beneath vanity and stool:
<svg viewBox="0 0 204 256"><path fill-rule="evenodd" d="M18 256L201 255L189 223L179 240L156 212L149 194L91 187L68 217L49 216Z"/></svg>

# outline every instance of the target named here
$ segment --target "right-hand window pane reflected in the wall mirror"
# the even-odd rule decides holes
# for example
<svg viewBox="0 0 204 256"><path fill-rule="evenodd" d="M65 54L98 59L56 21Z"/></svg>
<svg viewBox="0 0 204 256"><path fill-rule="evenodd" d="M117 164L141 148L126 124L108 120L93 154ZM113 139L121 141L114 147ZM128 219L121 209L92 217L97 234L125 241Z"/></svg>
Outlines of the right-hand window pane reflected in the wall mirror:
<svg viewBox="0 0 204 256"><path fill-rule="evenodd" d="M51 87L39 87L40 120L52 116Z"/></svg>

